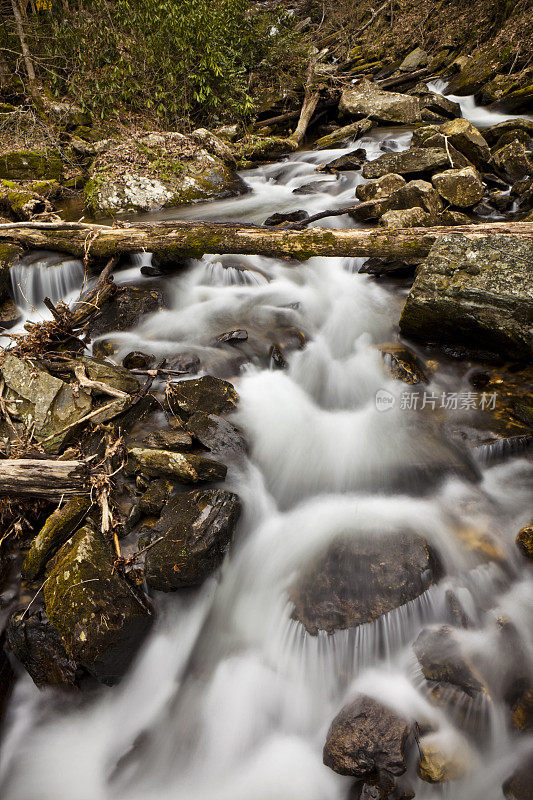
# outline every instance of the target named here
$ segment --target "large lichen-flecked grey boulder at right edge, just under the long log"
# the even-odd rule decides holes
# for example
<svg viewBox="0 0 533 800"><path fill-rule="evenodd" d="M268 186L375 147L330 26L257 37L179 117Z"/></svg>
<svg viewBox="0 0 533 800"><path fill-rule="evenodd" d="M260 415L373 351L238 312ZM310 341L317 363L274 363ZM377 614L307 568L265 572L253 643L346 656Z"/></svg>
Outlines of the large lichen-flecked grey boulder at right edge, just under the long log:
<svg viewBox="0 0 533 800"><path fill-rule="evenodd" d="M404 336L531 356L533 245L505 235L445 236L418 269L400 319Z"/></svg>

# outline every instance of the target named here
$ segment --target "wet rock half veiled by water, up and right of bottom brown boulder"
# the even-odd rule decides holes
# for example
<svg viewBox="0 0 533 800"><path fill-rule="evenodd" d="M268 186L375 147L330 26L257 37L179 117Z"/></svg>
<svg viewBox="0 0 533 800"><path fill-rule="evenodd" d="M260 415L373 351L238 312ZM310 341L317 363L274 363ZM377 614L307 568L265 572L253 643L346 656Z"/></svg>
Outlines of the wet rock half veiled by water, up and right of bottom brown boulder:
<svg viewBox="0 0 533 800"><path fill-rule="evenodd" d="M454 628L426 628L413 649L427 680L457 686L473 699L488 694L484 679L463 651Z"/></svg>

